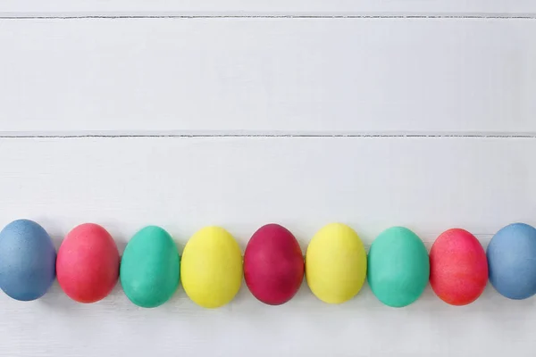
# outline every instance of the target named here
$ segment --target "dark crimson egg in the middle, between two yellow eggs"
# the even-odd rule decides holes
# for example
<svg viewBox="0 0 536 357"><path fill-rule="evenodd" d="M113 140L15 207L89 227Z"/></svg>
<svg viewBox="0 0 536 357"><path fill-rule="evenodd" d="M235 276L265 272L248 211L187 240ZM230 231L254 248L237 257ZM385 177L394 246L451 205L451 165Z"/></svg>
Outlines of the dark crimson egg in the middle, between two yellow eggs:
<svg viewBox="0 0 536 357"><path fill-rule="evenodd" d="M304 257L287 228L267 224L254 233L244 253L244 278L263 303L280 305L296 295L304 278Z"/></svg>

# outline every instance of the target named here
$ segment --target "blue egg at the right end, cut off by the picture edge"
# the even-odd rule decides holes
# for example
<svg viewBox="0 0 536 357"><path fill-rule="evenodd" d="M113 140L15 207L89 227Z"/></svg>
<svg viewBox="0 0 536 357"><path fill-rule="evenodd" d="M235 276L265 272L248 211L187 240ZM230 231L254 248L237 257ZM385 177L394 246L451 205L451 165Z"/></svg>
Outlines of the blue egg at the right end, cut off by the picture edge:
<svg viewBox="0 0 536 357"><path fill-rule="evenodd" d="M521 300L536 294L536 228L514 223L488 245L490 282L500 295Z"/></svg>

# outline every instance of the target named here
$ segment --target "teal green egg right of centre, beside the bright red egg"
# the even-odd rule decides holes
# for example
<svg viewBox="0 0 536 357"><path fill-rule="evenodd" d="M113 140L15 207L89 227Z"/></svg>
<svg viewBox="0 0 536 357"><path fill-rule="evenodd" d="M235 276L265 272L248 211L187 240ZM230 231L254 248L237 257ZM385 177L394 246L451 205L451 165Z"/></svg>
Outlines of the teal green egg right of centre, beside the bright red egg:
<svg viewBox="0 0 536 357"><path fill-rule="evenodd" d="M381 303L392 307L414 303L429 276L426 247L414 232L393 227L374 239L368 256L368 282Z"/></svg>

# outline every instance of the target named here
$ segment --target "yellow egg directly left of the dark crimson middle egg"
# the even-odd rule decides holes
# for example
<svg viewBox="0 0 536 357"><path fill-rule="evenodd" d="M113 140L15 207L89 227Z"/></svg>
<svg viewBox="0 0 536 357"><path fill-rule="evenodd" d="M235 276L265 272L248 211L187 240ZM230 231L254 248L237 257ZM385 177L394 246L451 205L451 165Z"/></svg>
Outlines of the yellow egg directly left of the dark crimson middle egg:
<svg viewBox="0 0 536 357"><path fill-rule="evenodd" d="M188 297L199 306L216 308L230 303L242 282L238 243L223 228L200 229L184 247L180 279Z"/></svg>

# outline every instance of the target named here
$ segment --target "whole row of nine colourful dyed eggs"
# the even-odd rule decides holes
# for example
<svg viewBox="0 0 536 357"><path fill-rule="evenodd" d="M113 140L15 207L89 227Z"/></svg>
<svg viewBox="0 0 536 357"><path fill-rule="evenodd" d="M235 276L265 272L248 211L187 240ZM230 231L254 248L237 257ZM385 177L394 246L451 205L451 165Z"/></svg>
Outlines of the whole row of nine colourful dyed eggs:
<svg viewBox="0 0 536 357"><path fill-rule="evenodd" d="M472 303L488 278L501 295L524 299L536 293L536 228L515 223L491 239L487 253L464 229L438 237L430 255L407 228L383 231L370 252L356 232L340 223L312 238L306 259L296 238L277 224L259 228L244 259L235 239L223 228L199 230L180 257L172 237L149 226L130 239L120 258L110 234L93 223L73 228L57 256L46 230L31 220L15 220L0 232L0 287L21 301L38 299L58 278L66 295L80 303L105 298L118 278L132 303L155 307L175 293L181 281L197 304L215 308L238 293L242 276L263 303L288 302L304 274L311 291L325 303L344 303L368 278L373 294L389 306L415 302L430 281L441 300Z"/></svg>

